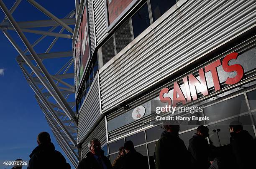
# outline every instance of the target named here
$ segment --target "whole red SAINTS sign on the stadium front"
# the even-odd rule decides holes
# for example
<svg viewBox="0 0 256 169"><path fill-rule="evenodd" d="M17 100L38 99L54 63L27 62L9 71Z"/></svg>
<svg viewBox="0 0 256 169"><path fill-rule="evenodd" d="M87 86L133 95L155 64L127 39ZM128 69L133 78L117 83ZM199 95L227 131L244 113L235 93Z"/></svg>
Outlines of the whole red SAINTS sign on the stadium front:
<svg viewBox="0 0 256 169"><path fill-rule="evenodd" d="M207 65L200 70L198 70L200 80L198 80L194 75L188 75L187 77L183 78L184 83L184 92L182 92L180 86L177 82L174 82L173 87L173 98L170 97L164 97L164 94L167 94L169 92L169 88L164 88L161 90L159 97L161 102L168 103L170 106L176 107L176 104L178 102L182 102L182 104L186 104L188 102L191 102L192 100L197 99L197 91L201 92L204 96L207 96L208 88L207 88L207 82L205 79L205 72L211 72L213 85L215 88L215 91L220 90L220 81L218 77L217 67L222 65L223 70L225 72L236 72L235 77L227 77L225 80L225 83L227 85L233 85L237 82L239 82L244 74L243 67L239 64L235 65L228 65L228 62L230 60L236 60L238 57L238 53L230 53L229 55L225 56L223 61L216 60L215 62L212 62L210 65ZM191 98L192 96L192 98Z"/></svg>

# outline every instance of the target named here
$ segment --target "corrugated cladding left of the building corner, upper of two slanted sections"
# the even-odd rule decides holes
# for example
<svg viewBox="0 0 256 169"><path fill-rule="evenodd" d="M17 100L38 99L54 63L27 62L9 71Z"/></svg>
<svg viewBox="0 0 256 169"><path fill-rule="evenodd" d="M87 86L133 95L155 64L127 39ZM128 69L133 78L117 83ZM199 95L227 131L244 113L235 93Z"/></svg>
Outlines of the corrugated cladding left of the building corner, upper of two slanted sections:
<svg viewBox="0 0 256 169"><path fill-rule="evenodd" d="M100 117L100 91L98 80L99 76L97 74L78 114L78 144Z"/></svg>

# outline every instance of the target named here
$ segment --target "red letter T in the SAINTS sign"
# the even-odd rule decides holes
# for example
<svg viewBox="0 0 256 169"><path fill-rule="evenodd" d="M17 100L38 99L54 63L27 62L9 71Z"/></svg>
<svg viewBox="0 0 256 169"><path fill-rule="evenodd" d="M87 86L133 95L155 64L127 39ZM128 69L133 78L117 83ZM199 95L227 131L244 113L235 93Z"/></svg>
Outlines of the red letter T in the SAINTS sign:
<svg viewBox="0 0 256 169"><path fill-rule="evenodd" d="M215 62L212 62L210 65L205 66L205 72L211 71L215 91L220 90L220 80L216 69L220 65L220 60L216 60Z"/></svg>

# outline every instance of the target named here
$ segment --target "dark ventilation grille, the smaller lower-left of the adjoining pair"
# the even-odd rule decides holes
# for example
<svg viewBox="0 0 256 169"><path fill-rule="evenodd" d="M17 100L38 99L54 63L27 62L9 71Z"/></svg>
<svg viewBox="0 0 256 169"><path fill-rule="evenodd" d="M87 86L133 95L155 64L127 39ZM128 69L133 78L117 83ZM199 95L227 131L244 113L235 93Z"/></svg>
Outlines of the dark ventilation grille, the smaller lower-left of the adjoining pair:
<svg viewBox="0 0 256 169"><path fill-rule="evenodd" d="M105 65L112 57L115 56L114 38L111 36L104 45L102 45L102 60Z"/></svg>

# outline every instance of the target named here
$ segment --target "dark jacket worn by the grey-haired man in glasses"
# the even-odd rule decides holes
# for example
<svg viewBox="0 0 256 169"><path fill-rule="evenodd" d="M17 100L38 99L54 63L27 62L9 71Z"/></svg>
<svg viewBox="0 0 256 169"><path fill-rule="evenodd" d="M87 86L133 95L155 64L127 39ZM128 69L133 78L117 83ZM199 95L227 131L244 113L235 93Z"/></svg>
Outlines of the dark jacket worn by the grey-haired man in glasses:
<svg viewBox="0 0 256 169"><path fill-rule="evenodd" d="M108 157L104 156L104 151L102 150L102 155L100 156L106 165L107 169L112 169L111 162ZM77 169L100 169L100 165L93 156L91 152L86 154L86 157L79 162Z"/></svg>

